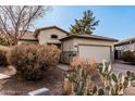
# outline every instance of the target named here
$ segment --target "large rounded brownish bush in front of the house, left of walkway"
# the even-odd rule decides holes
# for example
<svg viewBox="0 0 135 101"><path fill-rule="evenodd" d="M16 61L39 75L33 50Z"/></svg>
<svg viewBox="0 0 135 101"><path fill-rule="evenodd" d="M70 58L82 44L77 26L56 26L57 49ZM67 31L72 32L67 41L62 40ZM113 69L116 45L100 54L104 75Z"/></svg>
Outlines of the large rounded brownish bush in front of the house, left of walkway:
<svg viewBox="0 0 135 101"><path fill-rule="evenodd" d="M14 65L17 75L27 80L38 80L45 77L46 71L56 67L60 50L48 45L19 45L11 49L9 63Z"/></svg>

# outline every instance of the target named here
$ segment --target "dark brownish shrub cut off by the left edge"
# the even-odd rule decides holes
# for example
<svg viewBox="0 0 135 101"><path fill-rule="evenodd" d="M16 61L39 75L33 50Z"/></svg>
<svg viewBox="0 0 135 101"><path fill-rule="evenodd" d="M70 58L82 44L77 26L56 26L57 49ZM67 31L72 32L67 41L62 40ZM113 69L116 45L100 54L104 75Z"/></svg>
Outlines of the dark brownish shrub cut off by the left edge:
<svg viewBox="0 0 135 101"><path fill-rule="evenodd" d="M0 49L0 66L7 66L9 64L7 53L8 51Z"/></svg>

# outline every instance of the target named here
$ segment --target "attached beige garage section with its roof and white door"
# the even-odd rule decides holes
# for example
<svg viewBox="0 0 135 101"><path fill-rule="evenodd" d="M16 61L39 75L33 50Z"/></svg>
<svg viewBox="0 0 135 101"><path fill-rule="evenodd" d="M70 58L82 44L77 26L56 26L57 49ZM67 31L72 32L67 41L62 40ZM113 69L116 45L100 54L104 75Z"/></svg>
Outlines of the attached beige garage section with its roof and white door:
<svg viewBox="0 0 135 101"><path fill-rule="evenodd" d="M118 40L96 35L72 35L62 38L61 41L61 58L69 59L64 60L63 63L69 63L74 55L78 55L83 59L94 59L97 63L101 63L103 60L107 62L111 62L113 60L113 42L116 42ZM66 56L70 58L65 58L65 55L63 55L65 52Z"/></svg>

